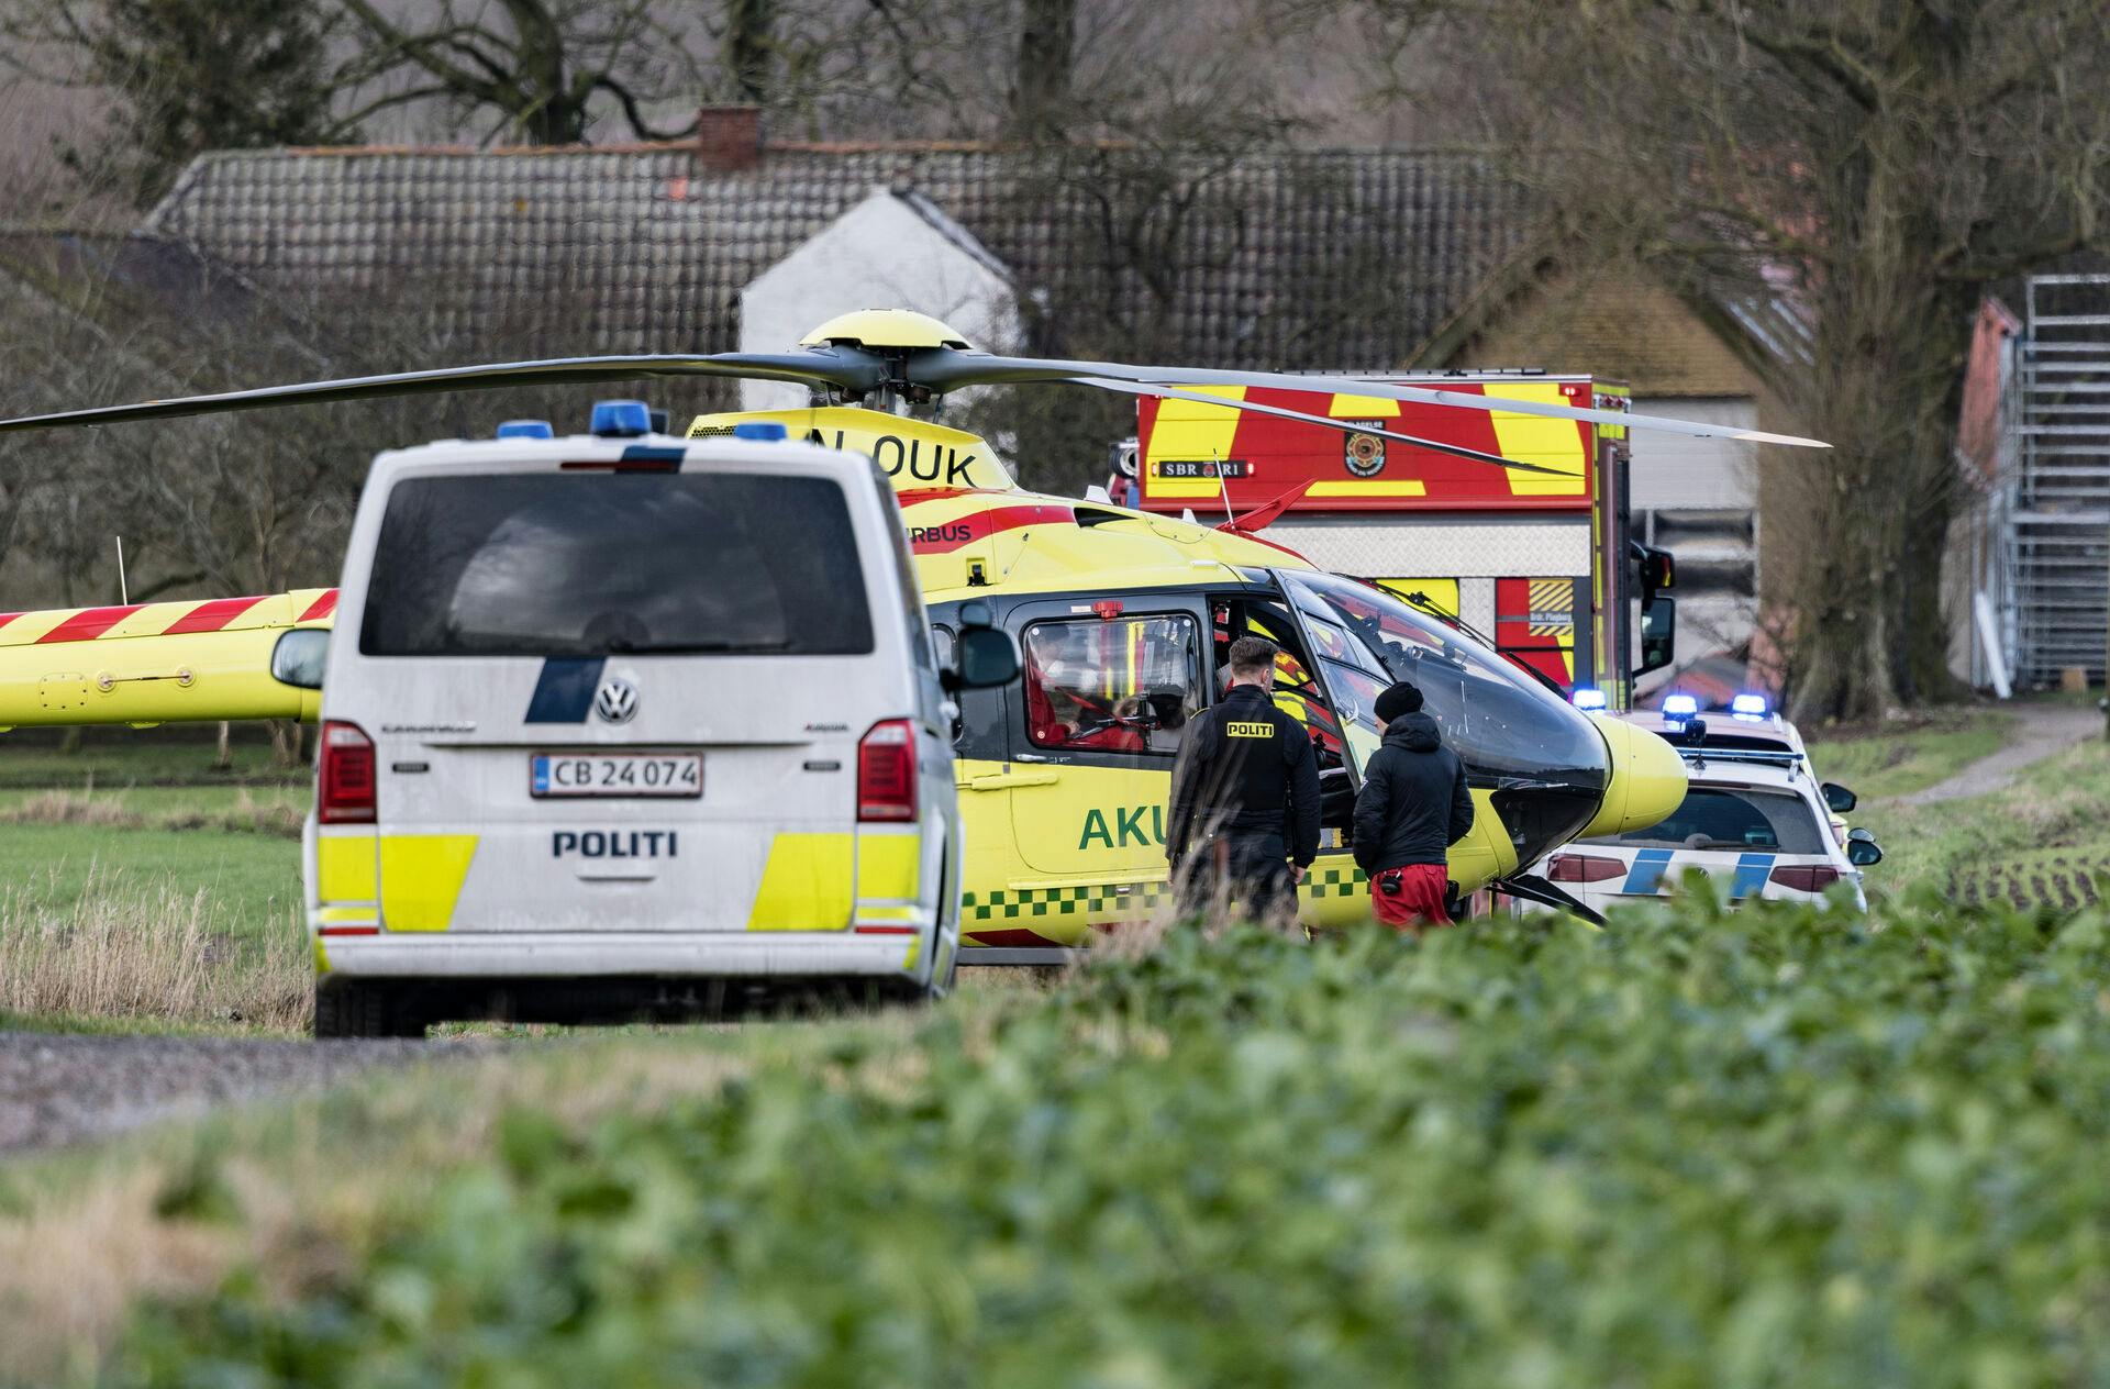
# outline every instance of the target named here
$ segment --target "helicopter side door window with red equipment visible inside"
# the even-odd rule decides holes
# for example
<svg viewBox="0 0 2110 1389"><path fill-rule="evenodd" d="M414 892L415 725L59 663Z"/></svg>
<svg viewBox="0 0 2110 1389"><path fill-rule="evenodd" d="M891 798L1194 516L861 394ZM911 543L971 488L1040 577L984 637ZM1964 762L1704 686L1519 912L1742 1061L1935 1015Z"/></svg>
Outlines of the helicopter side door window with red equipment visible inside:
<svg viewBox="0 0 2110 1389"><path fill-rule="evenodd" d="M1085 619L1025 629L1025 737L1059 751L1179 751L1201 709L1186 616Z"/></svg>

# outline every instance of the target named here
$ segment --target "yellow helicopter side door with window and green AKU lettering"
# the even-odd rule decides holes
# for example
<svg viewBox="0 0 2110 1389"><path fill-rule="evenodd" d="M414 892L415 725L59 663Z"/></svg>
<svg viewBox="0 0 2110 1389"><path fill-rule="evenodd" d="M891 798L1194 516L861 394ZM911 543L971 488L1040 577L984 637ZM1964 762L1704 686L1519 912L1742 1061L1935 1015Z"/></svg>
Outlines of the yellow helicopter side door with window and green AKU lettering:
<svg viewBox="0 0 2110 1389"><path fill-rule="evenodd" d="M1080 593L1017 604L1006 625L1023 657L1004 787L1021 912L981 937L1080 944L1085 925L1139 920L1163 895L1173 758L1207 703L1207 614L1196 593Z"/></svg>

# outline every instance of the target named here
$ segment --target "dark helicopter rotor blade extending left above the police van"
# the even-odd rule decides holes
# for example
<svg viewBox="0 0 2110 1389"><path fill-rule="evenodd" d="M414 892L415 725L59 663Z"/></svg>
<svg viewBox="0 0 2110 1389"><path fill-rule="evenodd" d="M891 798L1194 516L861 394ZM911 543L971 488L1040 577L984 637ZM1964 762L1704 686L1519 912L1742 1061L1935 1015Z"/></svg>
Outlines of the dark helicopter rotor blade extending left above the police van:
<svg viewBox="0 0 2110 1389"><path fill-rule="evenodd" d="M386 376L346 376L340 380L300 382L291 386L186 395L167 401L141 401L137 405L63 410L59 414L0 420L0 433L55 429L63 424L171 420L194 414L262 410L268 405L319 405L327 401L361 401L384 395L490 391L496 386L561 386L574 382L637 380L646 376L760 378L863 393L886 384L888 367L878 357L846 346L800 353L715 353L709 357L551 357L542 361L498 361L475 367L435 367L430 372L390 372Z"/></svg>

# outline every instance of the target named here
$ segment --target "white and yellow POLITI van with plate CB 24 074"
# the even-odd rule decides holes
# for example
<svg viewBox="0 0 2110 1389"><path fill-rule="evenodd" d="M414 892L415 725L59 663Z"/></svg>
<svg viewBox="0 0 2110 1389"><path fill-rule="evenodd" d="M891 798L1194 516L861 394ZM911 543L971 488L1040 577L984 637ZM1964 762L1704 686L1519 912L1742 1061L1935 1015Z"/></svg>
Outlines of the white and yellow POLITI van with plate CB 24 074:
<svg viewBox="0 0 2110 1389"><path fill-rule="evenodd" d="M939 667L863 456L652 424L376 458L335 635L274 671L323 690L319 1036L950 988L950 694L1011 680L1011 640Z"/></svg>

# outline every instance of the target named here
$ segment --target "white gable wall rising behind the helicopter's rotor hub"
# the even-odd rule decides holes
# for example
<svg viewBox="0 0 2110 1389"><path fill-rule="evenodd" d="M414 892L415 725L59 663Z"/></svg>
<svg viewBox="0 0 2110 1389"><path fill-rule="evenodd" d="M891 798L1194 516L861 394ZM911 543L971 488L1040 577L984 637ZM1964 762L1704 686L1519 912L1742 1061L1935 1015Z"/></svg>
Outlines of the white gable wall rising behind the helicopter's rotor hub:
<svg viewBox="0 0 2110 1389"><path fill-rule="evenodd" d="M880 188L741 291L741 350L783 353L827 319L859 308L914 308L985 350L1009 350L1017 340L1011 285L985 253ZM743 410L804 403L804 386L741 382Z"/></svg>

